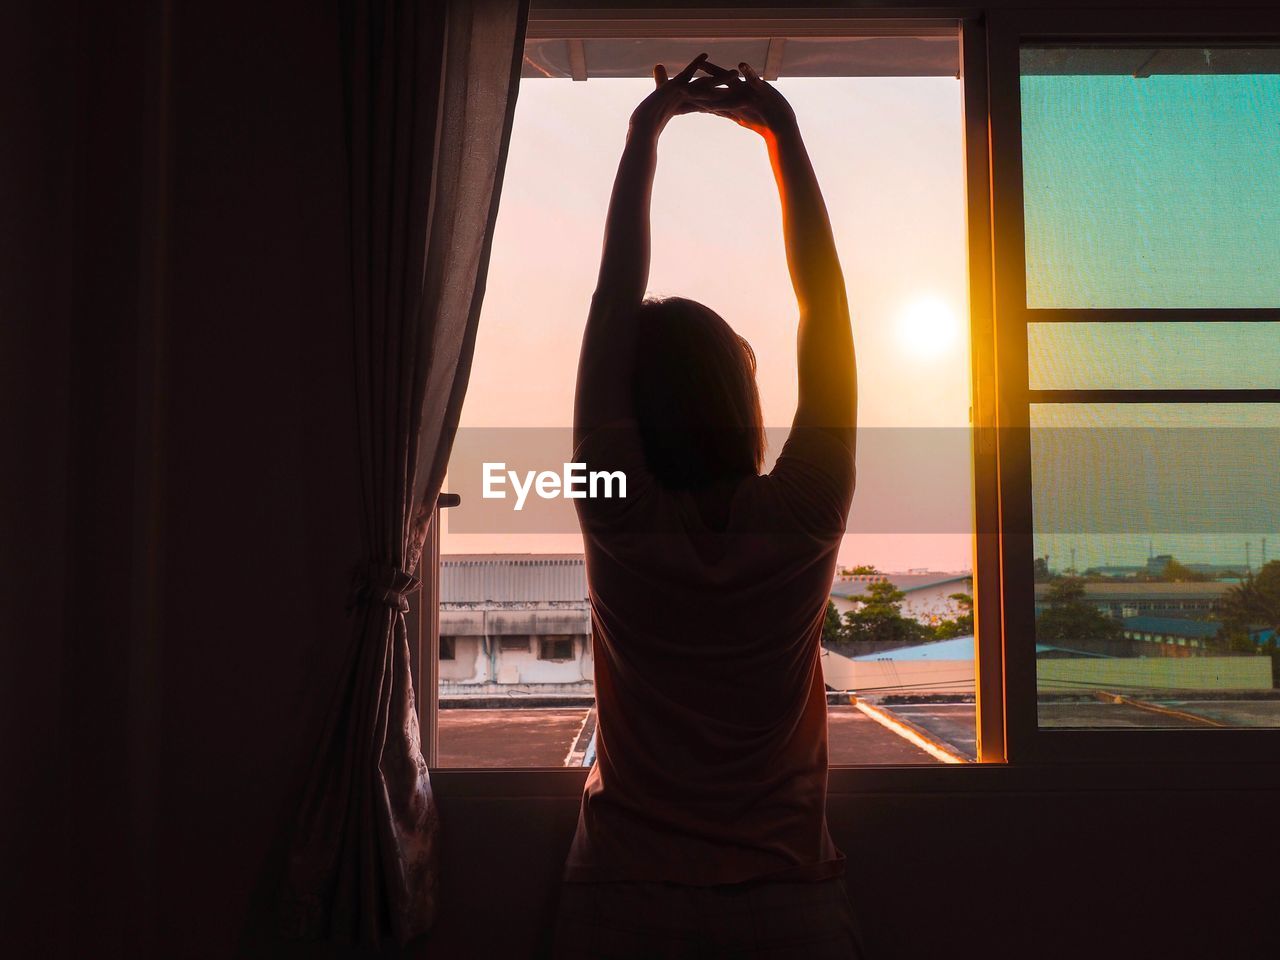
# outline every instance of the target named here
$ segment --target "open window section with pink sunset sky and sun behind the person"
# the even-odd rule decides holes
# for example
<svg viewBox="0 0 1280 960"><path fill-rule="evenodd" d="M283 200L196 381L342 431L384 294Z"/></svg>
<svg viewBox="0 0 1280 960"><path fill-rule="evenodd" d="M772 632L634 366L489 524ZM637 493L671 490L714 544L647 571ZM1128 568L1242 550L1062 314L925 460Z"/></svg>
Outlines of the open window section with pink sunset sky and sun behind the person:
<svg viewBox="0 0 1280 960"><path fill-rule="evenodd" d="M512 730L535 714L568 721L561 742L530 741L524 765L577 755L568 749L577 727L594 723L589 643L581 658L572 643L590 630L572 504L530 498L516 513L511 502L484 498L474 479L494 461L554 468L554 457L543 463L547 452L568 449L577 348L626 118L652 90L654 61L669 67L707 50L778 78L800 115L851 291L863 433L859 492L831 591L836 627L823 646L831 760L977 759L959 36L954 24L827 32L579 41L531 31L449 465L447 489L462 503L445 513L440 617L442 630L448 621L489 637L527 632L536 658L525 660L525 648L502 637L465 681L442 675L442 705L451 708L438 726L442 755L457 756L465 728L484 717L452 709L468 696L494 721L504 712ZM672 123L662 152L650 289L709 303L751 342L776 456L795 407L796 307L768 161L754 134L709 116ZM682 155L733 160L714 169L680 164ZM705 223L717 224L739 270L708 270L678 239ZM888 600L863 613L870 581L854 571L868 564L882 571L874 579ZM564 717L572 710L576 726Z"/></svg>

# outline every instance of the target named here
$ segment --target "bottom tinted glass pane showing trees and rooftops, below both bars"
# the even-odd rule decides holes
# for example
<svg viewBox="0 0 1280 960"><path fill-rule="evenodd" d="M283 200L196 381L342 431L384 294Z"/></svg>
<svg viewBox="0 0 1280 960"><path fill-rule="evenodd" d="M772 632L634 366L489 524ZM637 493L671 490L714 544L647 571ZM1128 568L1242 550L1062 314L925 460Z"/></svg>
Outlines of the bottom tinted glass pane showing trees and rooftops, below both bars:
<svg viewBox="0 0 1280 960"><path fill-rule="evenodd" d="M1280 726L1280 404L1033 404L1042 727Z"/></svg>

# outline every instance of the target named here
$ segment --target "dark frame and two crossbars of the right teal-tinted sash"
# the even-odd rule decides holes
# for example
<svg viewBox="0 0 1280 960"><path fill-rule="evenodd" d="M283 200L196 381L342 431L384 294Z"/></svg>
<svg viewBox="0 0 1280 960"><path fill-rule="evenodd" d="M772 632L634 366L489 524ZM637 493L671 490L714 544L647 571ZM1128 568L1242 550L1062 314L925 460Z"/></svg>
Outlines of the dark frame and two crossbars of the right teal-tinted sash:
<svg viewBox="0 0 1280 960"><path fill-rule="evenodd" d="M1055 8L996 10L988 17L992 232L997 421L1002 524L1001 577L1005 644L1005 716L1009 759L1028 763L1267 763L1280 755L1280 728L1041 728L1037 718L1033 524L1030 476L1032 403L1280 402L1280 390L1116 389L1032 390L1027 351L1029 323L1266 321L1275 308L1043 308L1027 306L1023 218L1021 97L1019 54L1025 44L1167 42L1211 46L1280 44L1280 14L1260 9L1165 10L1158 28L1149 12Z"/></svg>

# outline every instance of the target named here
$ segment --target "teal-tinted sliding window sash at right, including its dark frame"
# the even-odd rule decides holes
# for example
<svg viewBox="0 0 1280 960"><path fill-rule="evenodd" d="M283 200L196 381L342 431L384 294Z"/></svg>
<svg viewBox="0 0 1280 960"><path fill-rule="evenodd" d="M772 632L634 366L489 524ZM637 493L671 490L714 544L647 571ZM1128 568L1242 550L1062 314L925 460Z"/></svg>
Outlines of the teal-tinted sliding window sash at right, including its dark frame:
<svg viewBox="0 0 1280 960"><path fill-rule="evenodd" d="M1280 727L1280 46L1112 22L992 38L1010 753L1247 755Z"/></svg>

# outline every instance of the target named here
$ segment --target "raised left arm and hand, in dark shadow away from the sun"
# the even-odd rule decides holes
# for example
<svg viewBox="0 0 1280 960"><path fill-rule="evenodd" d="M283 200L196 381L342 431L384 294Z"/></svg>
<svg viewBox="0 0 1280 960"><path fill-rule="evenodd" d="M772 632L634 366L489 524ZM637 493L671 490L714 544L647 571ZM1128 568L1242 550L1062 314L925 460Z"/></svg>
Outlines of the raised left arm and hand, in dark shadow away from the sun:
<svg viewBox="0 0 1280 960"><path fill-rule="evenodd" d="M655 88L631 114L604 225L600 274L579 356L575 445L591 428L632 415L636 312L649 283L649 202L658 137L672 116L699 109L694 92L699 84L714 82L709 77L694 81L705 59L703 54L671 79L662 65L654 67Z"/></svg>

